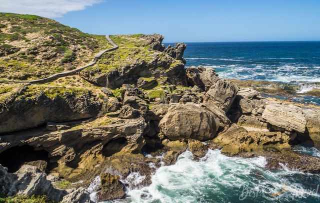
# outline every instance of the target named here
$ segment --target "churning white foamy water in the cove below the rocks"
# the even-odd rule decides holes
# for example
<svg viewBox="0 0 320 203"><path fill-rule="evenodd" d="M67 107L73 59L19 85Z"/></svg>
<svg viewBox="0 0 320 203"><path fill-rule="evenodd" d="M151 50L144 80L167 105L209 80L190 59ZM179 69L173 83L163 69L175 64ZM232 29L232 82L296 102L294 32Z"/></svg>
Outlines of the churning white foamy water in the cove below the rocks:
<svg viewBox="0 0 320 203"><path fill-rule="evenodd" d="M306 148L307 150L307 148ZM198 161L182 153L172 166L162 166L152 184L127 191L115 203L221 203L320 201L318 175L287 170L268 170L263 157L227 157L209 150ZM109 202L110 203L110 202Z"/></svg>

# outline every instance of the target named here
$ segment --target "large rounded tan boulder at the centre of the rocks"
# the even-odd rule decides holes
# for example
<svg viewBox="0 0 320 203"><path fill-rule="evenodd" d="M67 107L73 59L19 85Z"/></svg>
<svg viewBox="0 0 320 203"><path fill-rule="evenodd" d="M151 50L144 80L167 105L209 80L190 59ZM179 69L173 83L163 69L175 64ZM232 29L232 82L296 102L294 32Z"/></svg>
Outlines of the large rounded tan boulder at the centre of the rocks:
<svg viewBox="0 0 320 203"><path fill-rule="evenodd" d="M215 136L218 122L210 111L200 105L170 104L159 128L170 140L209 140Z"/></svg>

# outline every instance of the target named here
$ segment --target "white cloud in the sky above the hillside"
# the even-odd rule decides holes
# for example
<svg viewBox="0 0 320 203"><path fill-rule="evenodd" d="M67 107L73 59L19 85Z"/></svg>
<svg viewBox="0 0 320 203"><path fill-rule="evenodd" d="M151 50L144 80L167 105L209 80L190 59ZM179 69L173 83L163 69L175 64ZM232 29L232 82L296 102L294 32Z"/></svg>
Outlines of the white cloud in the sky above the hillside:
<svg viewBox="0 0 320 203"><path fill-rule="evenodd" d="M83 10L98 2L101 0L0 0L0 12L60 17L67 12Z"/></svg>

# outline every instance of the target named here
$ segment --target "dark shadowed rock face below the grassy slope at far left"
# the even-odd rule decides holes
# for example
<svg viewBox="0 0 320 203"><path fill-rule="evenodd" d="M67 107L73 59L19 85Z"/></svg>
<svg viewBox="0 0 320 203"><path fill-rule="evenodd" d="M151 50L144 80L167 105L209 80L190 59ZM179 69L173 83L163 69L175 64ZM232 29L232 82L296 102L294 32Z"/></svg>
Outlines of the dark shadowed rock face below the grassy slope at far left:
<svg viewBox="0 0 320 203"><path fill-rule="evenodd" d="M100 112L103 102L90 91L79 95L66 92L50 97L43 91L30 96L31 87L0 103L0 133L37 127L47 122L63 122L91 118Z"/></svg>

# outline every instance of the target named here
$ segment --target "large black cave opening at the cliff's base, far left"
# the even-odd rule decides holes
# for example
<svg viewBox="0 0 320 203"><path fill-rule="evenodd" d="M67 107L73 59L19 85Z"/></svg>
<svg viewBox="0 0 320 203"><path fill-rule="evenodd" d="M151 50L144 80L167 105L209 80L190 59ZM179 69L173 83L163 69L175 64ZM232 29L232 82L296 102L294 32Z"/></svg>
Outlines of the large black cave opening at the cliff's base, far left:
<svg viewBox="0 0 320 203"><path fill-rule="evenodd" d="M16 172L24 163L32 161L49 162L49 153L45 150L35 150L28 145L16 146L0 153L0 164L8 168L8 172Z"/></svg>

